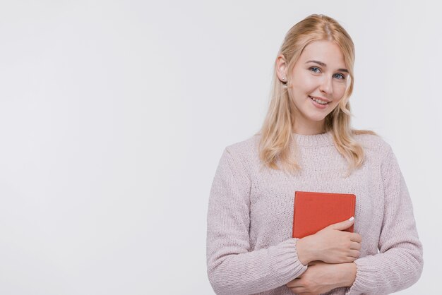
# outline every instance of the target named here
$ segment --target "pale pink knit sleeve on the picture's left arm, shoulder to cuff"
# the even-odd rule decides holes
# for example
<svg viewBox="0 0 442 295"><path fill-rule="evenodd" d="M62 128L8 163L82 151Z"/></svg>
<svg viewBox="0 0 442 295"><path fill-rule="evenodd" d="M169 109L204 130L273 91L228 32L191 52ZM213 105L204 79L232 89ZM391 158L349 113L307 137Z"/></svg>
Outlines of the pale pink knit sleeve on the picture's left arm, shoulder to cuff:
<svg viewBox="0 0 442 295"><path fill-rule="evenodd" d="M207 216L208 278L216 294L275 289L307 268L297 258L297 239L252 251L250 191L251 180L241 158L226 148L213 179Z"/></svg>

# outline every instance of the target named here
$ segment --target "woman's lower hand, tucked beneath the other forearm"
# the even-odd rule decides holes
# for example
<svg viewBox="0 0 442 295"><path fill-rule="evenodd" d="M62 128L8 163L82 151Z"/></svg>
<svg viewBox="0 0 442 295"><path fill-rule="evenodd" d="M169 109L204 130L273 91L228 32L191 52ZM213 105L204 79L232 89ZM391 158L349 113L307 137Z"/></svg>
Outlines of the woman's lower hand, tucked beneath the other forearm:
<svg viewBox="0 0 442 295"><path fill-rule="evenodd" d="M307 270L296 279L286 284L296 294L316 295L322 294L338 287L344 287L344 275L341 264L323 263L313 261Z"/></svg>

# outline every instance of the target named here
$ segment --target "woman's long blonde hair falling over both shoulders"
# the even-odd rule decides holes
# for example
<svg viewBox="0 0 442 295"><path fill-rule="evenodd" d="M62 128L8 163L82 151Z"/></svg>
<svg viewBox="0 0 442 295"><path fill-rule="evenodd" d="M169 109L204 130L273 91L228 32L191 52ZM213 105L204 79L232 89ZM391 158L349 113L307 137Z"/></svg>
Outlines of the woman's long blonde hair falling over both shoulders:
<svg viewBox="0 0 442 295"><path fill-rule="evenodd" d="M313 14L304 18L294 25L285 35L278 56L282 55L287 65L287 81L291 80L291 73L301 52L313 41L328 40L333 41L340 47L344 56L345 65L349 71L347 90L337 107L325 117L325 132L331 131L335 148L345 157L349 164L347 176L351 171L360 167L364 162L364 150L354 135L375 134L373 131L354 130L350 126L350 95L353 91L353 64L354 64L354 44L350 35L333 18L323 15ZM287 86L280 81L276 73L277 64L273 73L273 87L271 100L267 116L261 131L259 143L259 157L265 167L279 169L277 161L280 160L282 170L296 172L301 169L297 160L290 150L290 144L295 144L293 140L293 124L295 121L294 104L289 99ZM288 83L287 83L288 84ZM295 145L296 148L296 145Z"/></svg>

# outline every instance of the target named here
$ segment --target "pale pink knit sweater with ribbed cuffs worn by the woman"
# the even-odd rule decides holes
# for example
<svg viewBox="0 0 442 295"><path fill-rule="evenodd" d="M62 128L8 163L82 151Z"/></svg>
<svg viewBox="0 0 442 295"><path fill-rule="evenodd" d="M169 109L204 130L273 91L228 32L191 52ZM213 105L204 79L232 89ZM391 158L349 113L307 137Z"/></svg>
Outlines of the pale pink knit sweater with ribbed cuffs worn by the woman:
<svg viewBox="0 0 442 295"><path fill-rule="evenodd" d="M292 238L295 191L356 195L354 232L362 235L356 279L352 287L326 294L390 294L417 282L422 243L388 143L374 135L355 136L364 147L364 164L345 178L347 161L330 132L294 134L302 167L297 174L263 167L259 139L227 146L213 179L207 267L216 294L293 294L285 284L308 267L299 261L298 239Z"/></svg>

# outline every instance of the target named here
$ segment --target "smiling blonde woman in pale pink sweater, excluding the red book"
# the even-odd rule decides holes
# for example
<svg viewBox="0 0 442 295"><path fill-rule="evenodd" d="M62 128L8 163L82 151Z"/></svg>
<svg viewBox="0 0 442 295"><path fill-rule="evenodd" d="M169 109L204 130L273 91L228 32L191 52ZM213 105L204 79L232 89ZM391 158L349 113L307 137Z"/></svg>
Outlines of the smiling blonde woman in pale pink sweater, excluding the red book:
<svg viewBox="0 0 442 295"><path fill-rule="evenodd" d="M419 279L422 243L395 155L350 126L353 64L333 18L312 15L287 32L261 132L225 148L213 179L217 294L389 294ZM294 239L295 191L352 193L354 219Z"/></svg>

